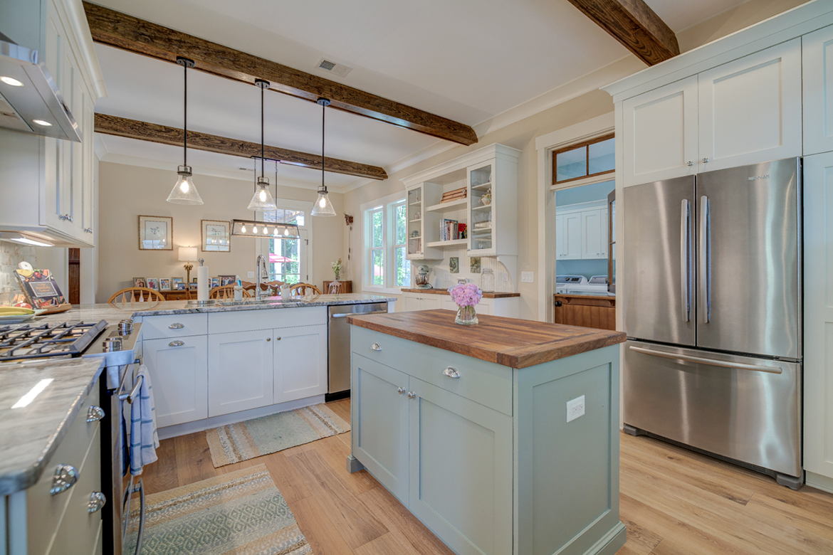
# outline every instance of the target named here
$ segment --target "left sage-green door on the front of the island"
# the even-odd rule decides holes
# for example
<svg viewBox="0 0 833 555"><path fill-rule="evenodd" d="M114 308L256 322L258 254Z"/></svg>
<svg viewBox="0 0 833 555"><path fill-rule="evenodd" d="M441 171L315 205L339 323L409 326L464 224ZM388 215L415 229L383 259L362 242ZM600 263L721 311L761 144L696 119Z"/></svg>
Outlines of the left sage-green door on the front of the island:
<svg viewBox="0 0 833 555"><path fill-rule="evenodd" d="M352 354L352 453L408 504L408 376Z"/></svg>

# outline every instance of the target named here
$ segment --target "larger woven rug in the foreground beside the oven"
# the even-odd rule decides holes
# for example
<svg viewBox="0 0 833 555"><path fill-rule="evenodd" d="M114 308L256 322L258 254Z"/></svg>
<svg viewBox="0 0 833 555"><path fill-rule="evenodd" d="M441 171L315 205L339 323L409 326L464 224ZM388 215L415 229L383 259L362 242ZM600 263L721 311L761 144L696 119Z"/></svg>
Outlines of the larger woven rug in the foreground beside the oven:
<svg viewBox="0 0 833 555"><path fill-rule="evenodd" d="M142 555L312 553L265 464L154 493L146 500ZM123 553L136 550L139 503Z"/></svg>

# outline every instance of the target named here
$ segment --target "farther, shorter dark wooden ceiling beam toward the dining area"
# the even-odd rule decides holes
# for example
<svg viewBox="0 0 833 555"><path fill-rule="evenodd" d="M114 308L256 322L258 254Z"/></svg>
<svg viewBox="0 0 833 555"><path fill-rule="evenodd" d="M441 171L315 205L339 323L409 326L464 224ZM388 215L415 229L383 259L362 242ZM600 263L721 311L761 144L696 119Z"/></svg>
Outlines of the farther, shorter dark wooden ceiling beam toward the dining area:
<svg viewBox="0 0 833 555"><path fill-rule="evenodd" d="M126 136L129 139L158 142L162 145L182 146L182 129L160 126L147 121L128 120L125 117L96 114L95 131L105 135ZM188 148L197 151L219 152L232 156L251 158L260 156L260 144L257 142L237 141L225 136L209 135L197 131L188 131ZM321 169L321 156L307 152L290 151L278 146L265 146L264 156L282 164ZM368 166L347 160L327 156L327 171L342 173L346 176L387 179L387 172L381 167Z"/></svg>

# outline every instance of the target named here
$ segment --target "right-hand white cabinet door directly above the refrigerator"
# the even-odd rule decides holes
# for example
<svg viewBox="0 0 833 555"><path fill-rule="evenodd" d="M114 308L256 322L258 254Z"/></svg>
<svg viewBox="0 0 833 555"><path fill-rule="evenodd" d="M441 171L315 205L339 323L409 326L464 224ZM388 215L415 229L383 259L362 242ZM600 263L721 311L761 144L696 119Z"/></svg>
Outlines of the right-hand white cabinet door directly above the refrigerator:
<svg viewBox="0 0 833 555"><path fill-rule="evenodd" d="M698 76L700 169L801 156L801 39Z"/></svg>

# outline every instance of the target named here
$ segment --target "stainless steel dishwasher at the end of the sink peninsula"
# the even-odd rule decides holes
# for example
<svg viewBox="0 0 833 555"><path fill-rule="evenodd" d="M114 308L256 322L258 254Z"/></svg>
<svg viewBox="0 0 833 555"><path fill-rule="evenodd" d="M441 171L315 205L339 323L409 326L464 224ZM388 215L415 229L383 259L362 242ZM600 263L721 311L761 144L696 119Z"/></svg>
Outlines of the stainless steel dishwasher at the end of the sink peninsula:
<svg viewBox="0 0 833 555"><path fill-rule="evenodd" d="M334 305L327 307L327 325L330 334L330 364L327 375L327 394L332 401L350 396L350 325L348 315L373 315L387 312L387 303L362 305Z"/></svg>

